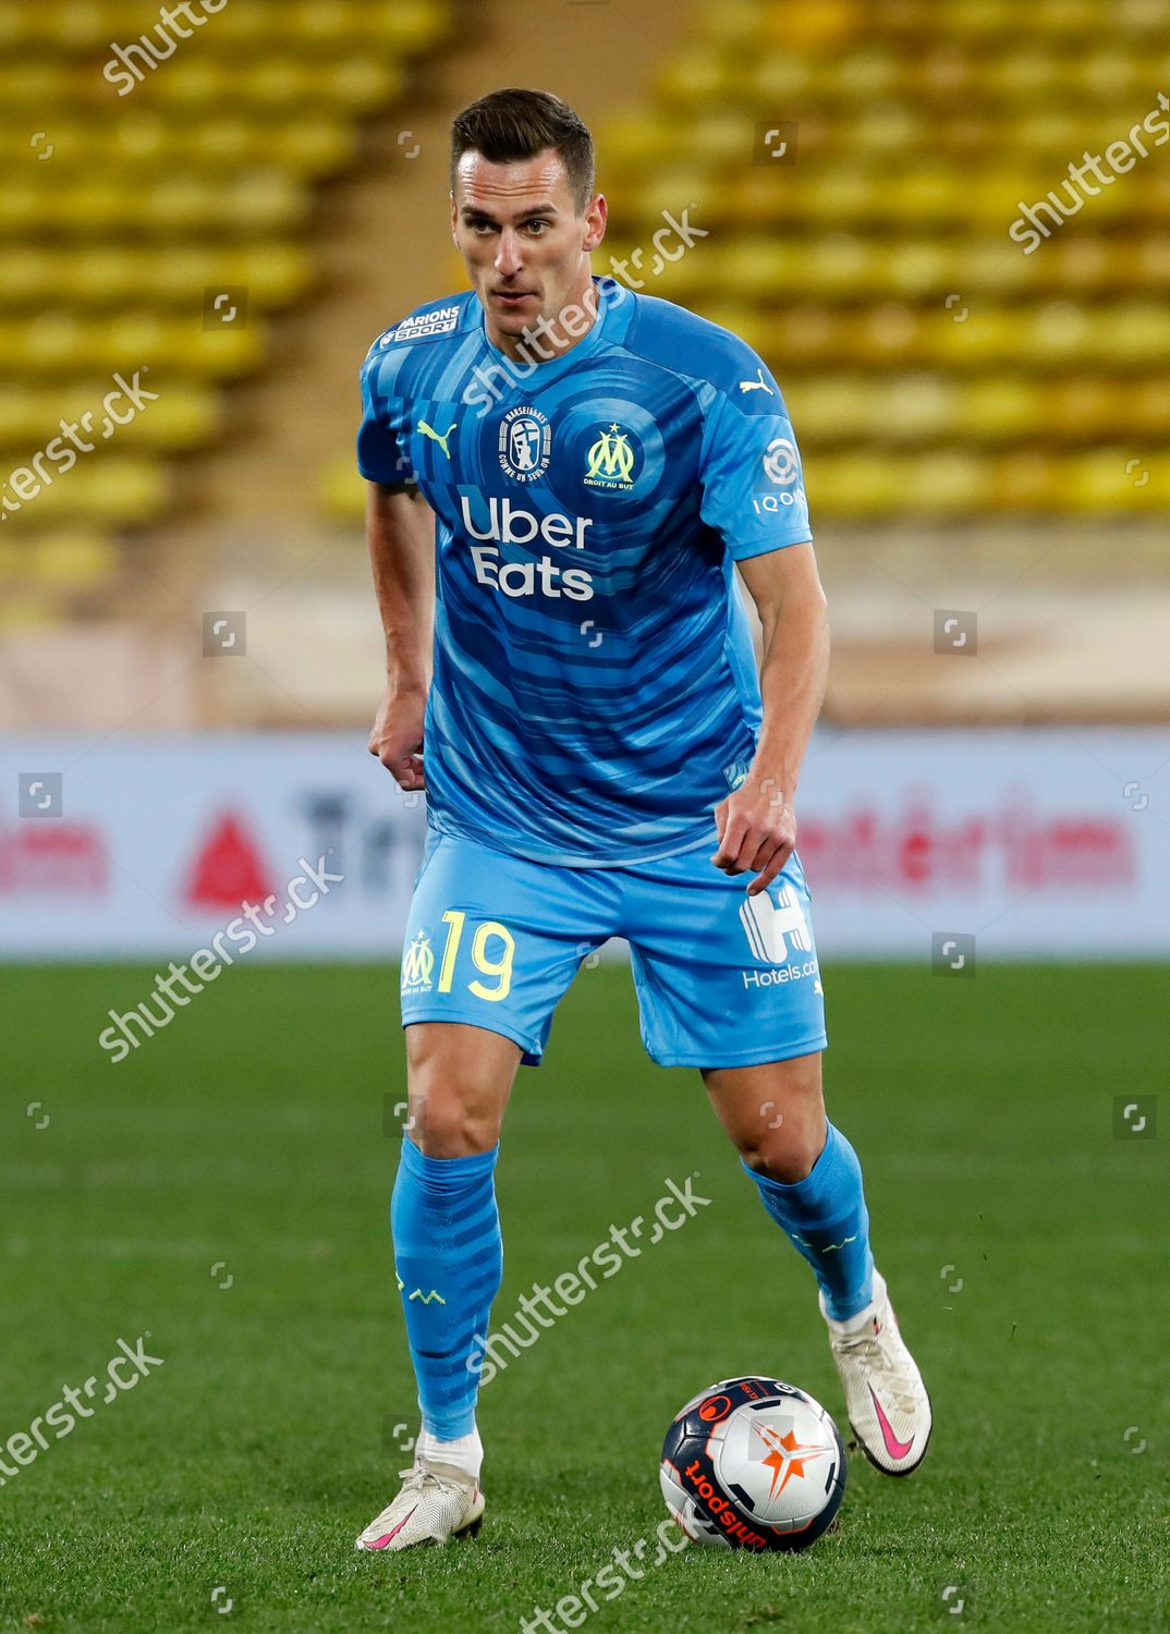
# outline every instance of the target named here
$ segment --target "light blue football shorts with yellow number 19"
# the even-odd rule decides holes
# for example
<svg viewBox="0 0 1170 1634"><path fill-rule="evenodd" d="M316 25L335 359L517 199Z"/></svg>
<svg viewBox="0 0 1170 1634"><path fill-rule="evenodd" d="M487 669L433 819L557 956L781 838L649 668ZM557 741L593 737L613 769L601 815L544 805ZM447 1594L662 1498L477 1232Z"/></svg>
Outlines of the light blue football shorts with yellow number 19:
<svg viewBox="0 0 1170 1634"><path fill-rule="evenodd" d="M642 1042L662 1067L748 1067L825 1047L799 858L758 897L699 850L556 868L431 830L402 951L402 1025L464 1021L536 1065L552 1011L610 936L631 948Z"/></svg>

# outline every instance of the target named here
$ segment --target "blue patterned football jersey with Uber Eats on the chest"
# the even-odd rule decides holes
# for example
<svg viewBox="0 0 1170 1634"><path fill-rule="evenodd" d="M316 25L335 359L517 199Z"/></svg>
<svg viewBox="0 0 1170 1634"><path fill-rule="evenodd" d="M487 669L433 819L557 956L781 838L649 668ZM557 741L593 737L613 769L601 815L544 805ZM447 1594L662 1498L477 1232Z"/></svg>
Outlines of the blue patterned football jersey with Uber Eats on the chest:
<svg viewBox="0 0 1170 1634"><path fill-rule="evenodd" d="M436 515L430 824L569 868L714 845L760 727L732 564L811 538L760 358L595 284L547 361L492 346L472 292L420 307L369 350L358 435L361 474Z"/></svg>

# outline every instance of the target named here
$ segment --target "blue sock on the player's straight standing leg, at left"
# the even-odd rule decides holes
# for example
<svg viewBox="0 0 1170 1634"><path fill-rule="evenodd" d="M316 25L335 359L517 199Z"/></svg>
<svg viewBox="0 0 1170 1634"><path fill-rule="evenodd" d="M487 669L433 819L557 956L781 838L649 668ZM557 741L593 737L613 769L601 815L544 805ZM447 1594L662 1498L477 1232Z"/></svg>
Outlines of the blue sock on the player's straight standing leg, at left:
<svg viewBox="0 0 1170 1634"><path fill-rule="evenodd" d="M423 1430L441 1441L476 1428L482 1359L469 1361L503 1276L498 1155L497 1142L472 1157L425 1157L402 1139L391 1198L394 1263Z"/></svg>

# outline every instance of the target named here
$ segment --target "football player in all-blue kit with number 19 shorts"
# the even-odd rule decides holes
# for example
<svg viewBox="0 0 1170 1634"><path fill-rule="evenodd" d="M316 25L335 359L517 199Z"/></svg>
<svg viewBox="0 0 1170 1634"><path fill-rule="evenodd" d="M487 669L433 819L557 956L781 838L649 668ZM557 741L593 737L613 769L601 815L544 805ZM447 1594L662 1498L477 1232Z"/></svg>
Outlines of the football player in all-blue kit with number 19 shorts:
<svg viewBox="0 0 1170 1634"><path fill-rule="evenodd" d="M479 1528L503 1109L610 936L629 941L650 1057L699 1069L812 1266L861 1446L905 1476L930 1402L820 1088L793 801L828 636L784 400L735 335L593 276L606 201L590 132L556 96L461 113L451 193L471 291L386 330L361 376L387 657L369 748L426 791L430 832L391 1203L422 1431L356 1546Z"/></svg>

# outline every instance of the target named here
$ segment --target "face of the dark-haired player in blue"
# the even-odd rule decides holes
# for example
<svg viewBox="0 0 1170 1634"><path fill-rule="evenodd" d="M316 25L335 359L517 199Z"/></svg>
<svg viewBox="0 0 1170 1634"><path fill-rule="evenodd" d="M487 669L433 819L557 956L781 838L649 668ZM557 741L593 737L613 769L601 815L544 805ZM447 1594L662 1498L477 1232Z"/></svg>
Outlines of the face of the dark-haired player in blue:
<svg viewBox="0 0 1170 1634"><path fill-rule="evenodd" d="M462 155L451 227L484 302L489 337L502 351L521 353L525 330L538 335L534 358L574 343L559 319L590 291L590 252L605 237L605 221L600 194L577 212L564 160L552 149L516 165Z"/></svg>

